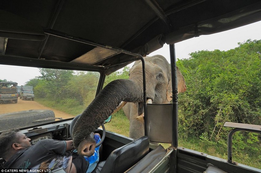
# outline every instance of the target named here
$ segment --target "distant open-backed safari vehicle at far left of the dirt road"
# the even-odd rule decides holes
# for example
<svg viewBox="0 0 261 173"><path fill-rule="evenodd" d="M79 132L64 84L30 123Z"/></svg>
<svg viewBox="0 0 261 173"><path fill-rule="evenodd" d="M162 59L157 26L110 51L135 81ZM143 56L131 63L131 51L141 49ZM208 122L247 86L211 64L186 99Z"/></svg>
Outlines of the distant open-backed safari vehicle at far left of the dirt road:
<svg viewBox="0 0 261 173"><path fill-rule="evenodd" d="M11 101L17 103L17 84L16 82L0 82L0 103L8 103Z"/></svg>

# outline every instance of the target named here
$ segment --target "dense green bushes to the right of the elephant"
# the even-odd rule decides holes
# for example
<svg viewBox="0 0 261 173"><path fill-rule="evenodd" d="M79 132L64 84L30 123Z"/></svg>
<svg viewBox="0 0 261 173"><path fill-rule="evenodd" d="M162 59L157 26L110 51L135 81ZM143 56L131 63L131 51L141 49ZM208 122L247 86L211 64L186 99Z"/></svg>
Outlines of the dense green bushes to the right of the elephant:
<svg viewBox="0 0 261 173"><path fill-rule="evenodd" d="M187 91L179 94L179 132L208 144L226 140L226 121L261 122L261 40L247 40L228 51L198 51L178 60ZM233 149L261 154L260 134L233 136ZM251 144L251 145L249 145Z"/></svg>

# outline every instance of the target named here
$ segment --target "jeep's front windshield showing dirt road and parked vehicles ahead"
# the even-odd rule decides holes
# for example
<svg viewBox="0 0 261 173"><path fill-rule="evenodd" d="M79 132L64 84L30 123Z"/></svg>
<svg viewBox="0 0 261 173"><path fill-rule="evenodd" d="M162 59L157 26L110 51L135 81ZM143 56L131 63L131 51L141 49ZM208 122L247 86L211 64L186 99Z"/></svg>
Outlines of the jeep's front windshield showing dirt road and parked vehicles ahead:
<svg viewBox="0 0 261 173"><path fill-rule="evenodd" d="M0 82L15 81L25 94L15 94L10 100L0 96L0 131L75 117L95 98L100 77L91 71L7 65L0 68L8 68L11 73L1 75ZM23 121L28 121L28 116L30 121Z"/></svg>

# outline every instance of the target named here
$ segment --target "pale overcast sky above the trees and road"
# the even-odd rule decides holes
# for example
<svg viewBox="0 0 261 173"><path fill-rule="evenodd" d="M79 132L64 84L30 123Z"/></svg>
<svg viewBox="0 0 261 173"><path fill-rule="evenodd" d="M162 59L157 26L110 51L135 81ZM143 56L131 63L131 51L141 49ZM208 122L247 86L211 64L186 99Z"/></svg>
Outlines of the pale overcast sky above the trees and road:
<svg viewBox="0 0 261 173"><path fill-rule="evenodd" d="M260 31L261 21L221 33L184 40L175 44L176 58L189 58L189 53L200 50L213 51L219 49L221 51L227 51L238 47L239 42L244 42L248 39L261 40ZM170 62L169 45L165 44L163 48L152 52L149 56L157 54L165 56ZM0 79L7 79L7 81L17 82L18 85L24 85L30 79L40 75L37 68L30 68L34 70L28 71L28 67L0 65Z"/></svg>

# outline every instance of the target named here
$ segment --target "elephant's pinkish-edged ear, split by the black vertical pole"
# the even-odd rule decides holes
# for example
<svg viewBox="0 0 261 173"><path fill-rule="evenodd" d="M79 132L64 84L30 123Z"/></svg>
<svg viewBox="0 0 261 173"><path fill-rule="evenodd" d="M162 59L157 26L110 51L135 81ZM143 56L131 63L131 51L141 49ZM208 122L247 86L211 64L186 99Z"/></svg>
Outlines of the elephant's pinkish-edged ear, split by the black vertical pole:
<svg viewBox="0 0 261 173"><path fill-rule="evenodd" d="M185 79L184 79L183 75L181 74L181 72L179 71L179 69L177 67L177 92L178 93L184 93L186 90L187 90L187 86L186 86L186 83L185 83ZM171 79L169 80L166 95L167 95L167 100L170 102L172 100Z"/></svg>

